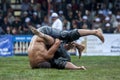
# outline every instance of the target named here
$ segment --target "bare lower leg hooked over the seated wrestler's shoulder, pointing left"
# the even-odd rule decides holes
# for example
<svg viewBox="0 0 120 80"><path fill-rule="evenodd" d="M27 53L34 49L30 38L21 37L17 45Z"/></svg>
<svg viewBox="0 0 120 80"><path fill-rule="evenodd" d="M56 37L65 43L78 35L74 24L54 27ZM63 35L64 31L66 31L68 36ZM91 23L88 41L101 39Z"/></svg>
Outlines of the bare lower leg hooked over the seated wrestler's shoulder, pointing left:
<svg viewBox="0 0 120 80"><path fill-rule="evenodd" d="M43 38L46 42L46 45L52 45L54 44L54 38L52 38L49 35L46 35L44 33L38 32L37 29L35 29L33 26L29 26L30 30L32 31L33 34Z"/></svg>

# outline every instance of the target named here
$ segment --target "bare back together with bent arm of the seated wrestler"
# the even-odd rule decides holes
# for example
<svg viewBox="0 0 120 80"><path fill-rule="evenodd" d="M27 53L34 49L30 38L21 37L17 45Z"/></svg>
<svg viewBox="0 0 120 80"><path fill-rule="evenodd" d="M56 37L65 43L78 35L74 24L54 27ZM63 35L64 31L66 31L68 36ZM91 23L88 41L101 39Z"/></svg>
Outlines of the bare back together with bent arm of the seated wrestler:
<svg viewBox="0 0 120 80"><path fill-rule="evenodd" d="M58 49L59 45L60 40L56 39L51 48L47 50L45 40L34 35L28 47L28 56L31 67L35 67L41 62L51 59L54 56L54 53Z"/></svg>

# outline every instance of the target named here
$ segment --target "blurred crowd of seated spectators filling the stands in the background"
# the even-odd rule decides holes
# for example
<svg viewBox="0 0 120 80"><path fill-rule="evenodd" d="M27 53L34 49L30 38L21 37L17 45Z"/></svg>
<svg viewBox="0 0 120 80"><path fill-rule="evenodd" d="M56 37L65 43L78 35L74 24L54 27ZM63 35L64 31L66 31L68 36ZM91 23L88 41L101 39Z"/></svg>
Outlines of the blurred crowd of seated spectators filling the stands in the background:
<svg viewBox="0 0 120 80"><path fill-rule="evenodd" d="M28 26L51 26L53 12L58 13L64 30L101 28L103 33L120 33L120 0L20 1L16 0L21 3L21 15L15 16L11 4L1 0L0 34L32 34Z"/></svg>

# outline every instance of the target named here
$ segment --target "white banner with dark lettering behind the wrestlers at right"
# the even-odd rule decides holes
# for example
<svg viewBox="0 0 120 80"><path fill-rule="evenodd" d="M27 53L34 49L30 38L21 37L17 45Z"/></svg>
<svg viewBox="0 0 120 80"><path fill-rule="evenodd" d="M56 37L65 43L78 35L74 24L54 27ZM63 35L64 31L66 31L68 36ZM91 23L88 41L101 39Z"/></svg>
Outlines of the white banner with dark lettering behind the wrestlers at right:
<svg viewBox="0 0 120 80"><path fill-rule="evenodd" d="M104 37L104 43L96 36L81 37L77 40L78 43L86 45L83 55L120 55L120 34L104 34Z"/></svg>

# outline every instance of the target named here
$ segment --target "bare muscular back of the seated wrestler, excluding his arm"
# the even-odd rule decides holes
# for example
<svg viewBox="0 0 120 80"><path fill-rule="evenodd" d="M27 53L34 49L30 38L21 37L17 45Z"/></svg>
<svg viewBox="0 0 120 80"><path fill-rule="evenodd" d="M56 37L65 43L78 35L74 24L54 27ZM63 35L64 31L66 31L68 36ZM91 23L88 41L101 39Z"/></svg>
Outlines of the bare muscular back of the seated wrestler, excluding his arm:
<svg viewBox="0 0 120 80"><path fill-rule="evenodd" d="M28 47L28 56L30 59L30 64L37 65L39 62L45 61L43 53L46 53L46 46L42 38L33 36L30 45Z"/></svg>

